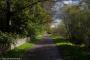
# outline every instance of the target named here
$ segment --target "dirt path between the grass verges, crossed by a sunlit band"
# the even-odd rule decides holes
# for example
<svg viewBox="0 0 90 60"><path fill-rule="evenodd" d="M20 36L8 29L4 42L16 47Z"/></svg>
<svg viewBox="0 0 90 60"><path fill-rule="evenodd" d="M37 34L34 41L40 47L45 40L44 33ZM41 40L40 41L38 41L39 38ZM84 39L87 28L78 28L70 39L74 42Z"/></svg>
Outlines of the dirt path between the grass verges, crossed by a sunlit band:
<svg viewBox="0 0 90 60"><path fill-rule="evenodd" d="M47 38L38 43L25 54L25 60L62 60L52 39Z"/></svg>

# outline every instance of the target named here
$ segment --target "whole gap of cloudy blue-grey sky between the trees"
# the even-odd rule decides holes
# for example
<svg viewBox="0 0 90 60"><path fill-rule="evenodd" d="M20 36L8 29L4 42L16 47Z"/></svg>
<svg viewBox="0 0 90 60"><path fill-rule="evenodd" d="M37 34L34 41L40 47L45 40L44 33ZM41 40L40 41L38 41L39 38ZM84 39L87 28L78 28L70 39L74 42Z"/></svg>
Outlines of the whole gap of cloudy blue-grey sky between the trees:
<svg viewBox="0 0 90 60"><path fill-rule="evenodd" d="M56 1L56 0L55 0ZM62 1L62 2L61 2ZM61 17L60 17L60 8L63 7L63 4L79 4L80 0L57 0L56 3L54 4L52 11L53 11L53 23L51 27L55 27L61 22Z"/></svg>

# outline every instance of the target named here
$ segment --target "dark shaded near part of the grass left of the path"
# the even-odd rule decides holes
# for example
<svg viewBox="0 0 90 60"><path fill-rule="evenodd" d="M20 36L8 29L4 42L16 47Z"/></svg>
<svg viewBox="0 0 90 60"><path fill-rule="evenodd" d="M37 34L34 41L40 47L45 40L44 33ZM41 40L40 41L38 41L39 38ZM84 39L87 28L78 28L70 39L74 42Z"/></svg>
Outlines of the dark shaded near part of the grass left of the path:
<svg viewBox="0 0 90 60"><path fill-rule="evenodd" d="M25 52L26 50L23 49L14 49L3 53L2 55L0 55L0 58L21 58Z"/></svg>

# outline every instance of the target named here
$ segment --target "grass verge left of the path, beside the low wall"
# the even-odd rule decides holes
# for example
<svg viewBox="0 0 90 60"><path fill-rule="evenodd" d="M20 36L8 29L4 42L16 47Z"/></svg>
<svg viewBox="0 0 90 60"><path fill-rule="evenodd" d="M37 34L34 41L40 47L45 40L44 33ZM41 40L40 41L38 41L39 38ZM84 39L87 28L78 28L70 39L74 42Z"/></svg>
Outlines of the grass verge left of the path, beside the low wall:
<svg viewBox="0 0 90 60"><path fill-rule="evenodd" d="M0 58L20 58L23 57L24 53L26 53L29 49L31 49L34 45L32 43L25 43L13 50L10 50L0 56Z"/></svg>

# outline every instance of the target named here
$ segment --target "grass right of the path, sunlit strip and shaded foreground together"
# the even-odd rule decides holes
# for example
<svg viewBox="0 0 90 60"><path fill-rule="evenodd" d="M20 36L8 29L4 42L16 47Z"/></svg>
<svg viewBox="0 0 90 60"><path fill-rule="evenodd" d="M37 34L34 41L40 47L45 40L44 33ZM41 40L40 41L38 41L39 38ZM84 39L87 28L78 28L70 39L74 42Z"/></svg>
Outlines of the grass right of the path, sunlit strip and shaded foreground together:
<svg viewBox="0 0 90 60"><path fill-rule="evenodd" d="M84 44L76 45L60 38L53 41L57 45L59 53L62 54L64 60L90 60L90 54L84 50Z"/></svg>

